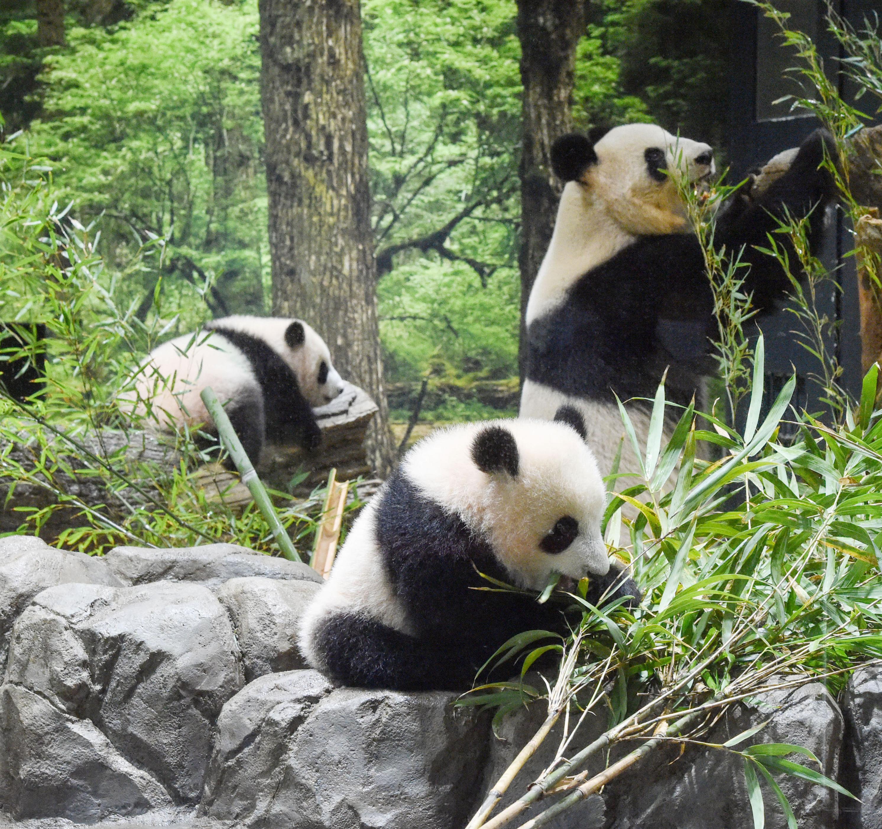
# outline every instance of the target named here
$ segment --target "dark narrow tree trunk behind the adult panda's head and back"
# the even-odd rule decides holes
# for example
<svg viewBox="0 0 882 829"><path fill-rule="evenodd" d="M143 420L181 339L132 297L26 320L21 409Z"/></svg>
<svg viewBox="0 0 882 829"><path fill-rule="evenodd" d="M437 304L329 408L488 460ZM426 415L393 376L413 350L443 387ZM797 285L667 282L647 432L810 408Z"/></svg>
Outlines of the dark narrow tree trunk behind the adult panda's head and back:
<svg viewBox="0 0 882 829"><path fill-rule="evenodd" d="M572 131L576 45L585 33L583 0L518 0L520 78L524 85L520 156L520 373L524 312L548 250L560 185L551 172L551 145Z"/></svg>

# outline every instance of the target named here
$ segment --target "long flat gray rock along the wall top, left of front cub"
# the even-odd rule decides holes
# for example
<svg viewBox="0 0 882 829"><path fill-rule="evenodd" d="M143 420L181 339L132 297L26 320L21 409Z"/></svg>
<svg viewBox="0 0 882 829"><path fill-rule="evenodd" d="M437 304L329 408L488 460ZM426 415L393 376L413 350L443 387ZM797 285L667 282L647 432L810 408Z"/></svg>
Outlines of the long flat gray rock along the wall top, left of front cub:
<svg viewBox="0 0 882 829"><path fill-rule="evenodd" d="M198 581L216 589L228 579L244 576L322 582L322 577L307 564L265 556L236 544L179 549L116 547L104 557L116 577L127 585L161 580Z"/></svg>

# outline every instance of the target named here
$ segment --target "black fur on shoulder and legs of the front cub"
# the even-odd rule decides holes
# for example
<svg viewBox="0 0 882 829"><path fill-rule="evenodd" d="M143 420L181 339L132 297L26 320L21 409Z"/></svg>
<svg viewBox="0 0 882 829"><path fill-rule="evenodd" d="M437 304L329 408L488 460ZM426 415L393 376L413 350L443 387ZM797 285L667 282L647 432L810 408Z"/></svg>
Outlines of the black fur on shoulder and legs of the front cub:
<svg viewBox="0 0 882 829"><path fill-rule="evenodd" d="M462 691L515 634L568 632L564 615L550 603L473 589L491 586L478 571L509 583L512 576L487 541L424 497L400 469L380 497L376 532L385 575L415 636L366 616L329 616L317 627L316 647L333 680L399 691ZM510 676L514 669L508 663L499 676Z"/></svg>

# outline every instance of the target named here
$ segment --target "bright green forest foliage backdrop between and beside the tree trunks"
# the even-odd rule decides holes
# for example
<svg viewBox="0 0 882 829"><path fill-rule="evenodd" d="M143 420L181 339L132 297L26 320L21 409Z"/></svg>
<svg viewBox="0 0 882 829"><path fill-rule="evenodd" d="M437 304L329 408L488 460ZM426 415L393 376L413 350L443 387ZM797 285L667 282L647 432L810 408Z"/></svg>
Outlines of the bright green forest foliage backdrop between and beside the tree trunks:
<svg viewBox="0 0 882 829"><path fill-rule="evenodd" d="M579 126L657 120L719 144L724 4L593 4L579 43ZM17 142L52 168L58 198L96 220L108 274L153 236L167 240L117 295L153 330L172 336L207 317L268 313L256 0L67 8L64 49L37 49L33 0L0 11L7 137L23 130ZM364 0L363 19L387 380L512 377L515 4ZM420 246L445 227L440 245Z"/></svg>

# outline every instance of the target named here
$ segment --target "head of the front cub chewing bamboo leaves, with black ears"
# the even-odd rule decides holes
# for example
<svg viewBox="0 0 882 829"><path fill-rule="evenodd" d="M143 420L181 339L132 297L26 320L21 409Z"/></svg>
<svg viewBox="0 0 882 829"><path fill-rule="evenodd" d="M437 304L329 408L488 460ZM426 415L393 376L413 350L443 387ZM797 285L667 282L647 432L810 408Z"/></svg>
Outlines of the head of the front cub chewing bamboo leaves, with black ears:
<svg viewBox="0 0 882 829"><path fill-rule="evenodd" d="M488 541L515 582L541 590L552 571L571 579L609 571L605 490L584 435L568 407L557 422L467 423L425 438L403 471Z"/></svg>

